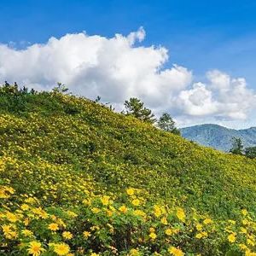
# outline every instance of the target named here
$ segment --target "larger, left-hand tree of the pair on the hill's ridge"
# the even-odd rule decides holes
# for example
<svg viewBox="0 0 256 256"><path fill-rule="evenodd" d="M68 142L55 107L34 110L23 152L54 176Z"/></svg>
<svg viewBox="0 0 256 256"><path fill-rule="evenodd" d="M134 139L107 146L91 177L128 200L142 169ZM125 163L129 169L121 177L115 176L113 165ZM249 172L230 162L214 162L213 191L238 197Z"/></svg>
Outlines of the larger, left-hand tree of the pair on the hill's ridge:
<svg viewBox="0 0 256 256"><path fill-rule="evenodd" d="M132 115L137 119L154 124L154 113L148 108L144 107L144 103L137 98L130 98L129 101L125 101L126 115Z"/></svg>

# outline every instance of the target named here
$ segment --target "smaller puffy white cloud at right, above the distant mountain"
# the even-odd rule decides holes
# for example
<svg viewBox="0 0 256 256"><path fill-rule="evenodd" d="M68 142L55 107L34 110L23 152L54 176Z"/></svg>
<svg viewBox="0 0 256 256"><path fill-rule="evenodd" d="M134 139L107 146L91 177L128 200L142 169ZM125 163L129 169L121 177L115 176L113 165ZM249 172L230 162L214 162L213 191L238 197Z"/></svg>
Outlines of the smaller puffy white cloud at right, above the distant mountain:
<svg viewBox="0 0 256 256"><path fill-rule="evenodd" d="M231 79L226 73L213 70L207 73L208 83L195 83L177 96L177 108L188 116L215 119L247 119L256 107L256 95L247 89L245 79Z"/></svg>

